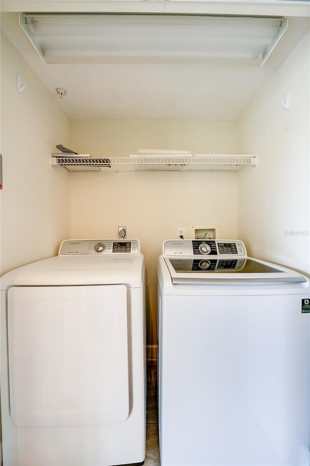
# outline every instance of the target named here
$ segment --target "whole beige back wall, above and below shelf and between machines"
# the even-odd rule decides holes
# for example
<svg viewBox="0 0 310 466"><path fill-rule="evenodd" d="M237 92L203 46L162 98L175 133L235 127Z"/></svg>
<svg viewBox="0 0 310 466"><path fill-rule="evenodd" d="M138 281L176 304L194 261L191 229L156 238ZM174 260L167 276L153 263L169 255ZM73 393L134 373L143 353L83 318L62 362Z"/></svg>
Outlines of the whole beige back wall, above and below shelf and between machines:
<svg viewBox="0 0 310 466"><path fill-rule="evenodd" d="M93 156L128 156L139 149L235 153L233 122L72 121L71 147ZM235 173L72 173L70 237L117 237L126 225L138 238L147 267L147 341L156 343L157 258L176 227L215 225L237 235Z"/></svg>

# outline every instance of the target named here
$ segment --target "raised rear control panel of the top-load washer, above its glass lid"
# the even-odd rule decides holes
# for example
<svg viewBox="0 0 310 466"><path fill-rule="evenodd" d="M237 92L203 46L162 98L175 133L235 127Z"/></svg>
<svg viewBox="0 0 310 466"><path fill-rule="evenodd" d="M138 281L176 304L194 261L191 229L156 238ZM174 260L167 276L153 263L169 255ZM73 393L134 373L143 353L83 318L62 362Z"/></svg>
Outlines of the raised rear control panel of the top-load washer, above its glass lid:
<svg viewBox="0 0 310 466"><path fill-rule="evenodd" d="M184 239L164 241L165 256L246 256L247 251L242 241L238 240L204 240Z"/></svg>

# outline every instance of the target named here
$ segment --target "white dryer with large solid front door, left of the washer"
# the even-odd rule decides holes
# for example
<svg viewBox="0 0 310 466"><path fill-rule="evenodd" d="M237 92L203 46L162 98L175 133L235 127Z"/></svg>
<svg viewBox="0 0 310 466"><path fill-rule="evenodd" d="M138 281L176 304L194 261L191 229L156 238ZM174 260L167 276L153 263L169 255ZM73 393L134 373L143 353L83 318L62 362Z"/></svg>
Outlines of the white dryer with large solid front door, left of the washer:
<svg viewBox="0 0 310 466"><path fill-rule="evenodd" d="M68 240L1 278L3 465L142 464L138 240Z"/></svg>

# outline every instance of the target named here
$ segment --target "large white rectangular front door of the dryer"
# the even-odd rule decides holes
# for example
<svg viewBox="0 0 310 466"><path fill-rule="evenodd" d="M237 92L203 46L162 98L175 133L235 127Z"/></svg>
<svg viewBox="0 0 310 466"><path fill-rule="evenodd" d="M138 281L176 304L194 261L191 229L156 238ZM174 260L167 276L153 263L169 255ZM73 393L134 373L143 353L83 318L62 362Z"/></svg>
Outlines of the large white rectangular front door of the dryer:
<svg viewBox="0 0 310 466"><path fill-rule="evenodd" d="M18 426L116 424L129 414L125 285L8 292L11 417Z"/></svg>

